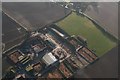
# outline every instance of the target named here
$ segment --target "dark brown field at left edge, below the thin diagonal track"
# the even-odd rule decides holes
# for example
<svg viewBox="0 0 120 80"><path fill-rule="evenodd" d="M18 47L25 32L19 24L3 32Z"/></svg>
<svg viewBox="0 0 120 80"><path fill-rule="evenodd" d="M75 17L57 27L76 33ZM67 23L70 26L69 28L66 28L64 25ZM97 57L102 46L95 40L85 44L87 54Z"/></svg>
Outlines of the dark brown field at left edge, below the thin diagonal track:
<svg viewBox="0 0 120 80"><path fill-rule="evenodd" d="M2 43L5 44L3 51L24 41L25 36L25 29L2 13Z"/></svg>

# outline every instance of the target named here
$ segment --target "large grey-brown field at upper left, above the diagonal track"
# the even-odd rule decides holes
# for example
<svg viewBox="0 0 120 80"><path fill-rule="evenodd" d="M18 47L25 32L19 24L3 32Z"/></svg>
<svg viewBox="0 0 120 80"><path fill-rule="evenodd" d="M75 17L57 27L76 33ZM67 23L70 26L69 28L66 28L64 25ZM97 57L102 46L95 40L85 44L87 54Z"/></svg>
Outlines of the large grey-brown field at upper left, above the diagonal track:
<svg viewBox="0 0 120 80"><path fill-rule="evenodd" d="M52 2L5 2L2 9L28 31L40 29L71 12Z"/></svg>

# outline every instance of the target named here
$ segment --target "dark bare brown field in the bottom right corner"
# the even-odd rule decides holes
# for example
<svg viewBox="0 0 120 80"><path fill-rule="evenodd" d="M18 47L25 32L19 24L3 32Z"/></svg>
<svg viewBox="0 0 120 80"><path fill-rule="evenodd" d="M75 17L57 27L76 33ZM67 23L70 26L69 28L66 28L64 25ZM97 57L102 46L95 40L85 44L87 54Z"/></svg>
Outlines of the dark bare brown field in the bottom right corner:
<svg viewBox="0 0 120 80"><path fill-rule="evenodd" d="M94 64L78 70L76 78L118 78L118 46L103 55Z"/></svg>

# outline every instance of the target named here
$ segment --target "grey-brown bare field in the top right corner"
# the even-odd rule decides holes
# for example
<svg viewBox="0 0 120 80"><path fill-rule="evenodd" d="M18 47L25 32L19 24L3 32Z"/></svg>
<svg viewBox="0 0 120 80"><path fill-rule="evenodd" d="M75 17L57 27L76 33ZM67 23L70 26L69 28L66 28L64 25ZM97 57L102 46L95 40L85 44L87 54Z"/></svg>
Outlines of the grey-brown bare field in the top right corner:
<svg viewBox="0 0 120 80"><path fill-rule="evenodd" d="M89 6L85 13L118 38L118 3L98 2L96 4L97 7Z"/></svg>

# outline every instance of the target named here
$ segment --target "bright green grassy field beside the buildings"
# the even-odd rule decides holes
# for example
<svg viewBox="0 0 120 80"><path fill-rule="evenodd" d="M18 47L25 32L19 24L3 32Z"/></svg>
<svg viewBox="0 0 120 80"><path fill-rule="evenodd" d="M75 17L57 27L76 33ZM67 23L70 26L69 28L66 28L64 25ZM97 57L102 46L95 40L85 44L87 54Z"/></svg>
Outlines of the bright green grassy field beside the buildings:
<svg viewBox="0 0 120 80"><path fill-rule="evenodd" d="M81 35L86 38L88 47L95 50L98 56L104 55L116 46L116 43L105 36L90 20L75 13L70 14L57 25L70 35Z"/></svg>

